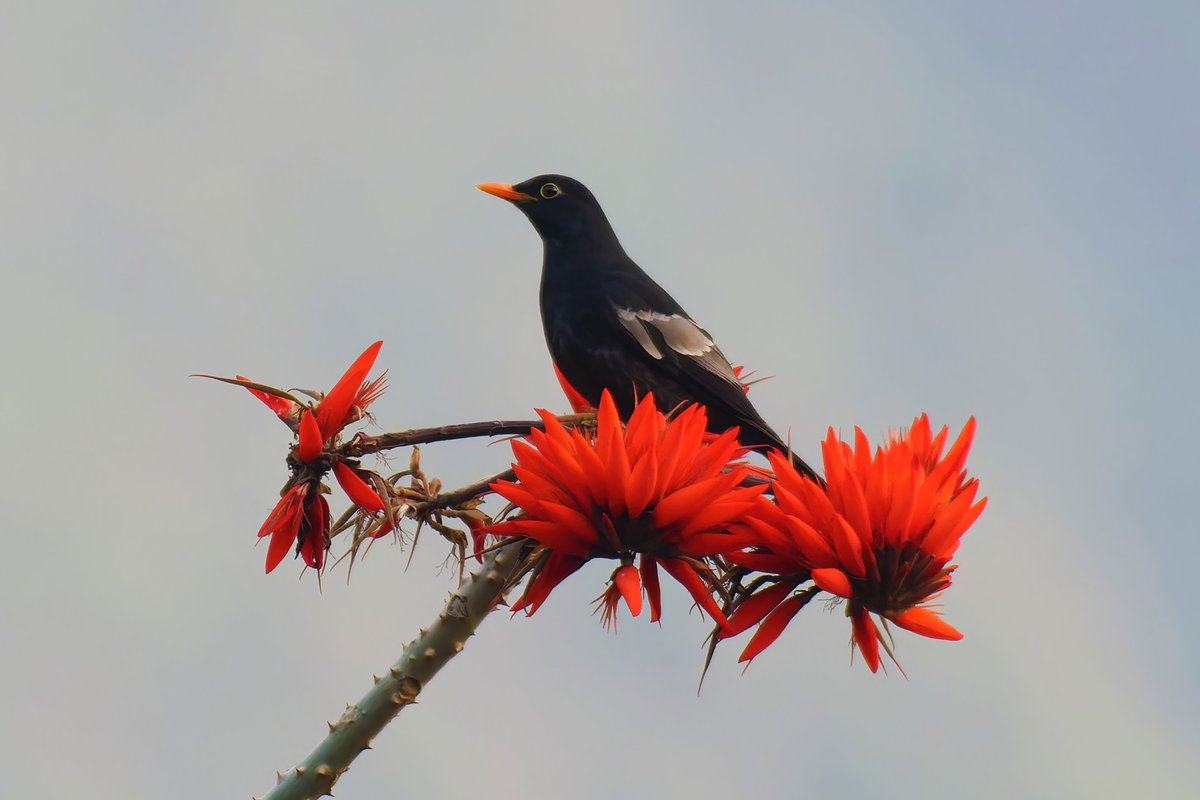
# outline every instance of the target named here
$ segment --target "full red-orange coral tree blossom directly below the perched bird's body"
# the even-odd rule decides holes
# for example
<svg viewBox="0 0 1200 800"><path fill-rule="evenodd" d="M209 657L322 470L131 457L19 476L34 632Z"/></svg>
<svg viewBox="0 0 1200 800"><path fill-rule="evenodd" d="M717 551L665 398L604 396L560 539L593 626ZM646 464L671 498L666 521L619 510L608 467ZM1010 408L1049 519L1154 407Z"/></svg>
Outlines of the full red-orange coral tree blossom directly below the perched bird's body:
<svg viewBox="0 0 1200 800"><path fill-rule="evenodd" d="M704 559L755 541L746 517L766 488L739 486L746 469L736 461L743 452L737 428L706 437L703 407L668 419L653 395L623 428L605 392L594 437L568 429L547 411L539 414L546 429L512 443L517 482L492 485L522 513L487 531L527 536L546 548L514 610L534 613L589 559L607 558L620 564L598 599L606 624L616 620L622 599L630 613L641 613L643 591L650 619L658 620L662 567L724 626Z"/></svg>

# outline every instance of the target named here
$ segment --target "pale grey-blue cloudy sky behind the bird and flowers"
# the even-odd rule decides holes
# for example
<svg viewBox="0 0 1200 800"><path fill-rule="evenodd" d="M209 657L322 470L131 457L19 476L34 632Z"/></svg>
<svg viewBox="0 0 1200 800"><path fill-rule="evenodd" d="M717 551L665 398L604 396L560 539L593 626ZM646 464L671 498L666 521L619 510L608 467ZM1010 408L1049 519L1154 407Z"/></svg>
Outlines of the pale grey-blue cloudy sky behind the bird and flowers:
<svg viewBox="0 0 1200 800"><path fill-rule="evenodd" d="M432 537L264 577L287 432L187 374L328 387L383 338L388 429L563 408L536 235L472 188L542 172L776 375L808 457L978 416L966 638L871 675L815 606L697 697L683 593L612 636L595 565L488 620L338 796L1194 792L1195 5L410 6L4 10L6 794L260 794L432 619Z"/></svg>

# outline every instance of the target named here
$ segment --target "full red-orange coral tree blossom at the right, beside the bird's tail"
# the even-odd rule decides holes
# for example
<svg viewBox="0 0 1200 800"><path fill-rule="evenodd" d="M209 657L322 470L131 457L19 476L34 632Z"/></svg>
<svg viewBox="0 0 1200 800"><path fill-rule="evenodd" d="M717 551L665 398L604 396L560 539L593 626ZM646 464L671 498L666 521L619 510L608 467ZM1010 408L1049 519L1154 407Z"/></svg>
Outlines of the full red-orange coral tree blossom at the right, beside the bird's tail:
<svg viewBox="0 0 1200 800"><path fill-rule="evenodd" d="M740 661L774 642L808 601L810 594L791 590L809 575L846 599L853 642L871 672L881 644L890 655L871 614L922 636L962 638L926 603L950 585L950 559L986 505L976 501L979 482L966 474L974 427L971 417L944 457L947 428L932 435L925 415L874 453L860 429L851 447L830 428L822 443L826 487L773 453L775 504L763 503L754 522L762 545L730 558L784 577L745 600L720 634L762 622Z"/></svg>

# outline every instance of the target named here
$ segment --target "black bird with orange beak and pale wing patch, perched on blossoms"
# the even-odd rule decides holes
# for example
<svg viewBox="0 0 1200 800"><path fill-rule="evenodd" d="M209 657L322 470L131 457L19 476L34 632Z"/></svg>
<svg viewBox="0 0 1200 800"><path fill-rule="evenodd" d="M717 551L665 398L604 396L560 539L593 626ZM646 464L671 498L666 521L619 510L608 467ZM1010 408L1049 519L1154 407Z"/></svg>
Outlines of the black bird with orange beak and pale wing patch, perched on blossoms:
<svg viewBox="0 0 1200 800"><path fill-rule="evenodd" d="M748 447L787 445L746 398L728 360L662 287L634 263L588 188L564 175L538 175L479 188L511 201L541 236L541 323L563 378L592 405L607 389L622 419L653 391L661 409L702 403L708 426L739 426ZM802 459L802 473L820 480Z"/></svg>

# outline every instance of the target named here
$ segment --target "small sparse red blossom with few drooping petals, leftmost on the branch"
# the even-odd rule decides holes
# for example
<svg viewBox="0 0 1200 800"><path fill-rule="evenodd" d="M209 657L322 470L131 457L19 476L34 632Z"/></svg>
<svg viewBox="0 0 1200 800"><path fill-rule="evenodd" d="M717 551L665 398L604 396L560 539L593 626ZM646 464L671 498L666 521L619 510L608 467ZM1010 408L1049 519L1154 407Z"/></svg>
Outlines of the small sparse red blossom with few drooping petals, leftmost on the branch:
<svg viewBox="0 0 1200 800"><path fill-rule="evenodd" d="M296 475L258 531L259 539L271 537L266 548L268 572L280 565L293 545L308 566L319 570L324 565L325 551L329 549L330 515L329 504L322 494L320 476L330 467L328 462L316 462L325 445L347 425L362 419L367 407L386 387L382 375L370 383L366 380L380 347L383 342L376 342L364 350L316 408L306 408L284 397L246 387L281 420L294 426L299 439L295 450L299 461ZM332 469L334 476L354 505L370 515L384 511L385 505L379 493L362 479L356 465L336 462ZM390 529L391 525L385 522L376 535Z"/></svg>

